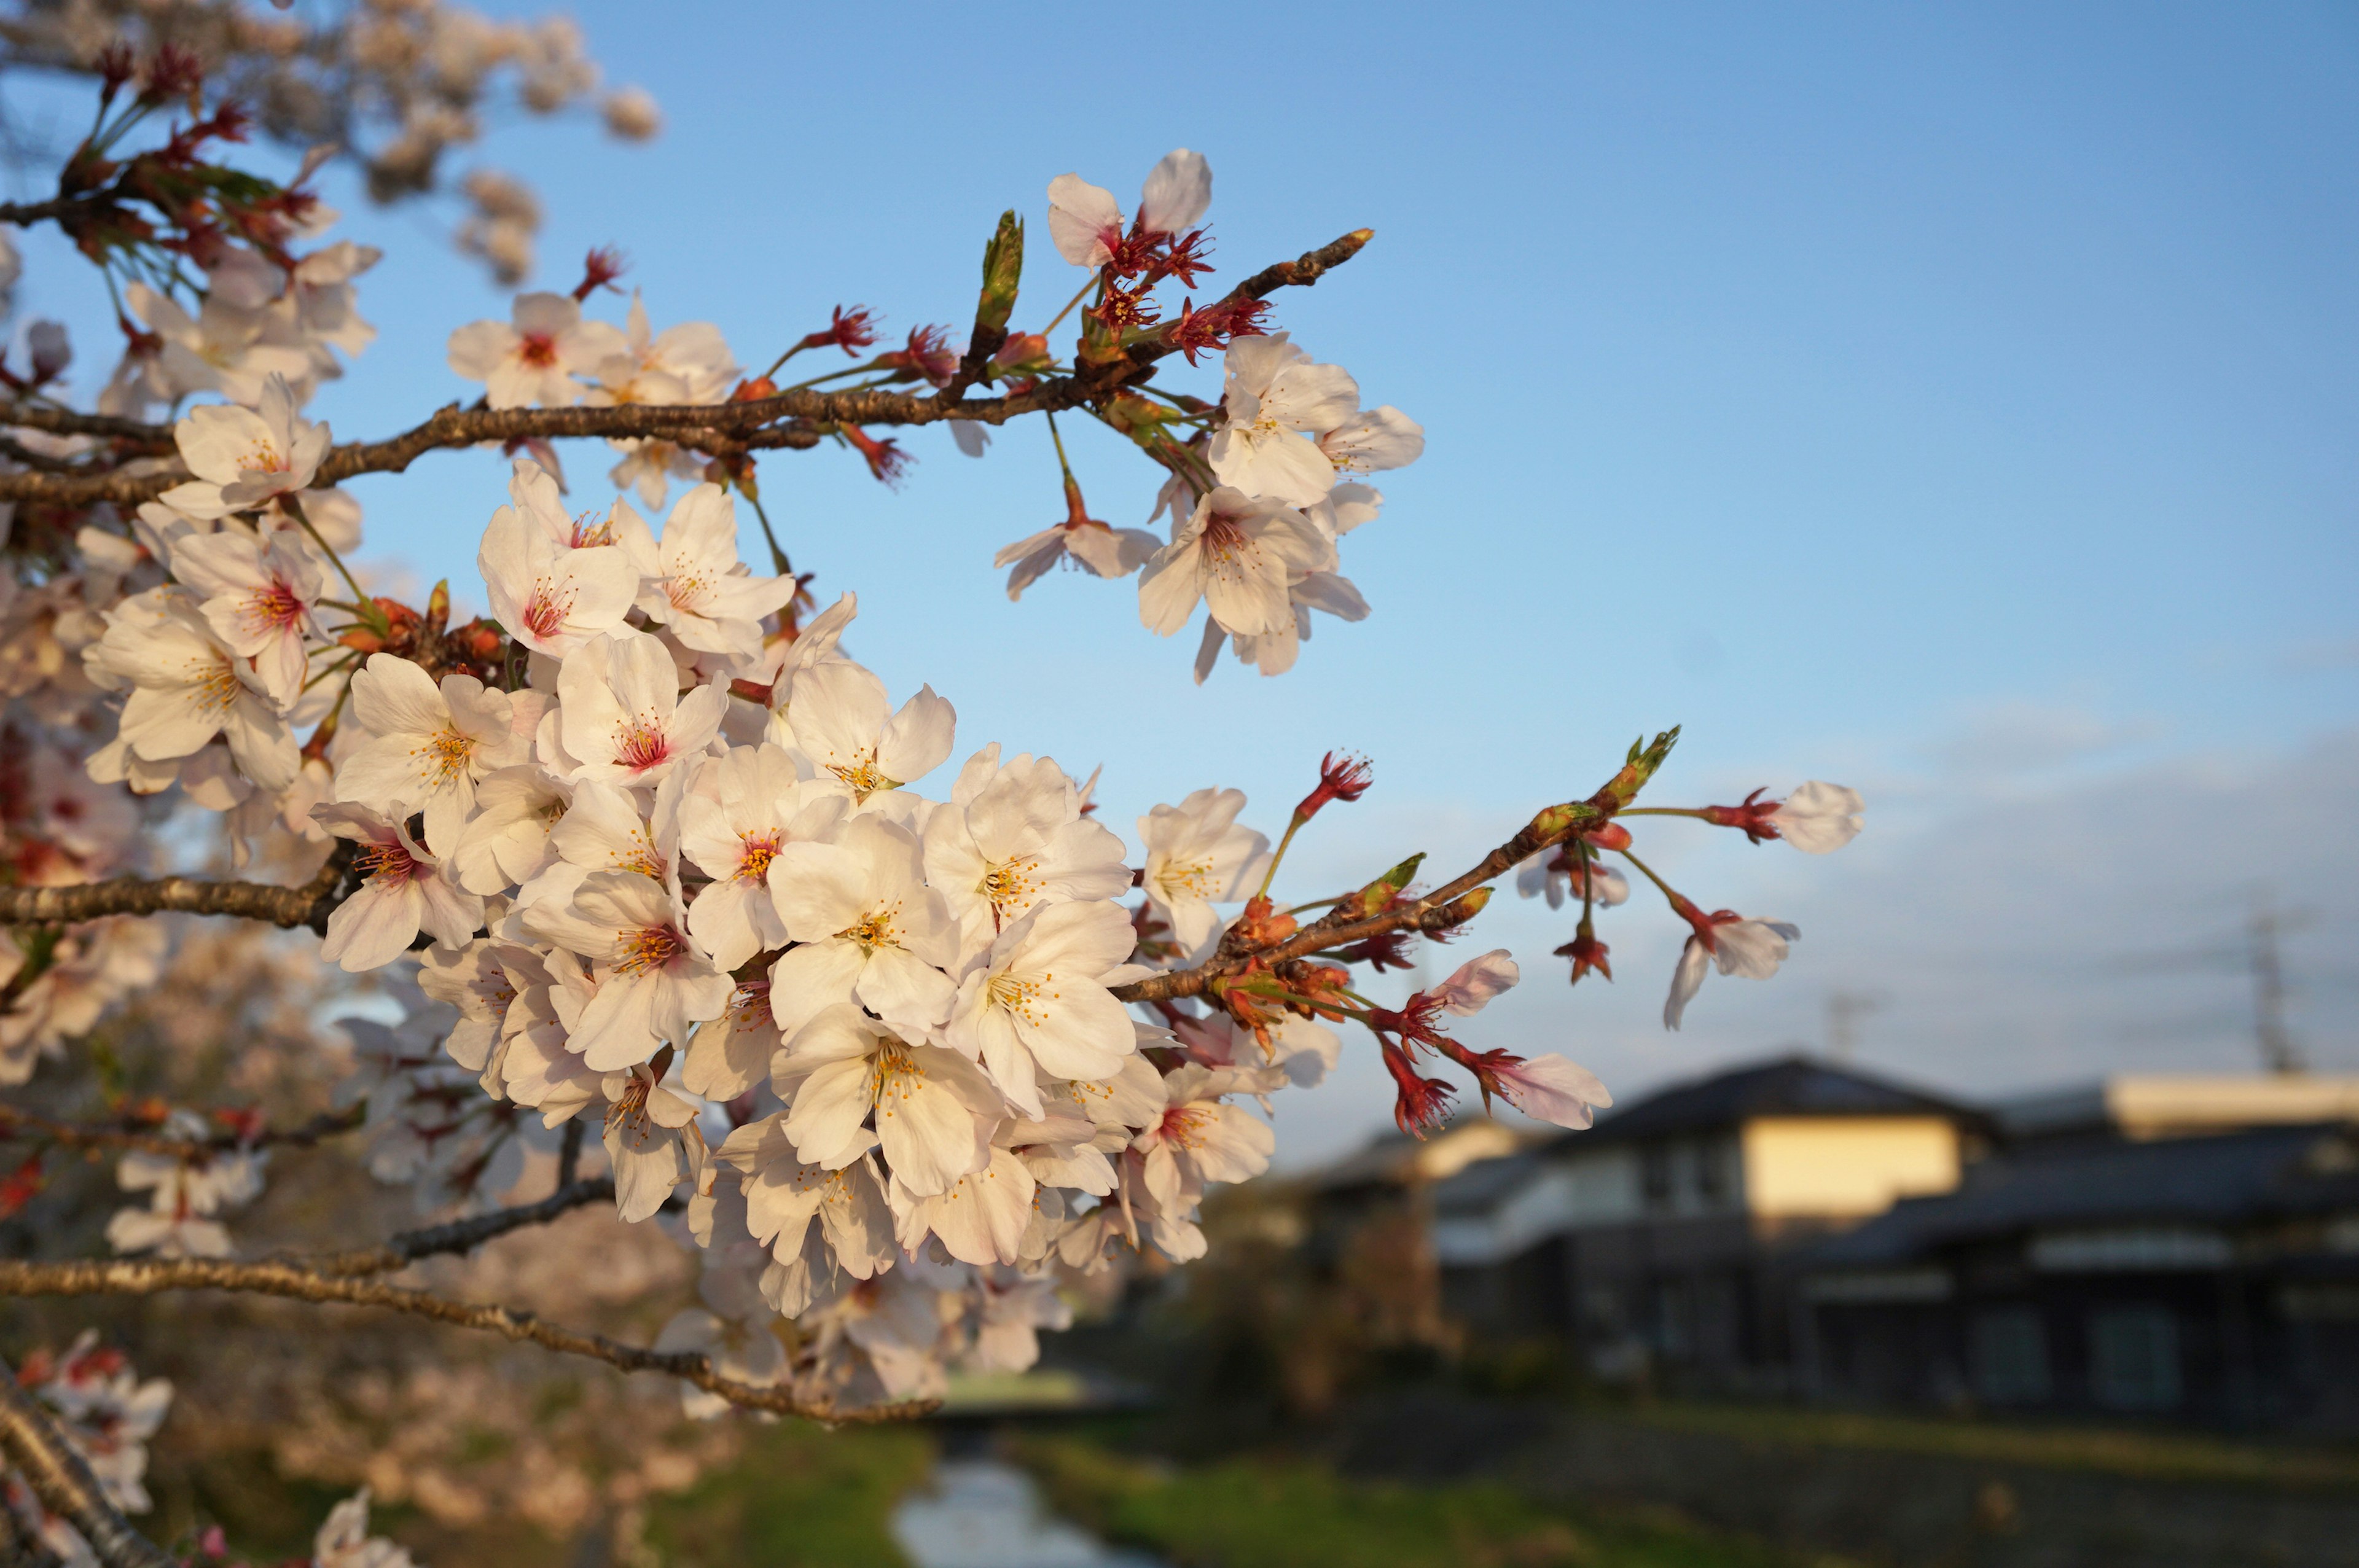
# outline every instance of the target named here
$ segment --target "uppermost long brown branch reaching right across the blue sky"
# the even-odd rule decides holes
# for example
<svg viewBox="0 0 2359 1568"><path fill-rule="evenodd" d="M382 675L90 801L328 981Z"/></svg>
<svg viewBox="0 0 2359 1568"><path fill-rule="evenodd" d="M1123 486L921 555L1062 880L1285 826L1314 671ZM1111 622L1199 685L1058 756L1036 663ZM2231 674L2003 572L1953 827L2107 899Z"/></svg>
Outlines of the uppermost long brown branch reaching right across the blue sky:
<svg viewBox="0 0 2359 1568"><path fill-rule="evenodd" d="M1264 266L1229 290L1227 297L1260 299L1279 288L1309 288L1359 255L1368 238L1371 231L1359 229L1319 250L1307 250L1293 262ZM743 403L623 403L611 408L460 408L451 403L399 436L349 441L330 448L321 460L316 483L328 486L356 474L399 474L425 453L441 448L526 441L535 436L665 436L677 441L698 431L712 431L717 439L738 446L816 446L819 431L809 429L809 424L934 424L939 420L1005 424L1029 413L1057 413L1111 398L1125 382L1137 380L1158 358L1175 351L1175 344L1149 335L1123 349L1104 368L1050 377L1029 391L1012 391L998 398L944 398L889 389L788 389ZM781 420L800 420L804 427L767 429ZM99 429L94 415L73 415L66 420L59 417L59 410L26 406L0 415L0 424L24 424L28 429L68 429L71 424L83 434L111 434L151 443L170 439L170 427L163 424L109 420ZM144 474L120 469L0 474L0 500L52 505L111 500L137 505L163 495L184 479L186 472L179 465Z"/></svg>

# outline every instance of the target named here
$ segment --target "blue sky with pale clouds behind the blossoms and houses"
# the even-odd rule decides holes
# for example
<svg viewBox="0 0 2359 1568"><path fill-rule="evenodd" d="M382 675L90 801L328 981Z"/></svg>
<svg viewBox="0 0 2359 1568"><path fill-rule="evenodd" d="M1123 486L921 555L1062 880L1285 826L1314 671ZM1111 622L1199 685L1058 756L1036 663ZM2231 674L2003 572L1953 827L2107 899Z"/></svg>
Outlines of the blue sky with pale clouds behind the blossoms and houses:
<svg viewBox="0 0 2359 1568"><path fill-rule="evenodd" d="M1217 283L1375 229L1276 316L1422 420L1427 457L1347 542L1375 615L1323 622L1276 681L1227 663L1198 691L1194 637L1142 632L1130 585L1005 601L991 552L1062 512L1038 427L981 462L920 431L896 493L835 450L764 465L797 566L861 592L859 658L932 681L962 743L1106 762L1118 828L1203 783L1276 828L1321 750L1366 750L1378 792L1321 818L1305 896L1411 849L1470 861L1673 722L1665 802L1866 790L1831 861L1649 830L1708 908L1805 927L1783 976L1715 979L1682 1035L1656 1021L1658 903L1609 917L1623 979L1578 993L1562 917L1489 922L1526 986L1470 1033L1618 1092L1819 1045L1838 990L1882 1002L1864 1061L1963 1092L2241 1068L2236 971L2149 960L2234 936L2258 891L2307 920L2300 1042L2359 1070L2352 9L576 14L668 127L479 149L543 191L540 283L616 243L658 325L715 321L755 363L837 302L962 328L1007 205L1040 325L1076 283L1047 179L1128 205L1172 146L1215 170ZM389 250L363 285L385 337L318 413L373 436L472 396L443 337L505 299L443 248L453 212L347 207ZM54 271L24 307L90 321ZM1156 474L1069 436L1095 514L1142 523ZM578 450L583 505L599 467ZM462 578L500 469L432 455L354 488L380 554ZM1283 1108L1283 1153L1385 1103L1354 1042Z"/></svg>

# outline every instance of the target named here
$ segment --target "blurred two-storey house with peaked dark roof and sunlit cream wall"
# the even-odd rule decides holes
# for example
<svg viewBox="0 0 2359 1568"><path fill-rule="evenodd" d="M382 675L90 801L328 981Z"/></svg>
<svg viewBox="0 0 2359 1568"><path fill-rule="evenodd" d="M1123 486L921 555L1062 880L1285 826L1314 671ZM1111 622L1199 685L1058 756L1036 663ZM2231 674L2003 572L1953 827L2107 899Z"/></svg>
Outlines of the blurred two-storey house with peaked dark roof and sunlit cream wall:
<svg viewBox="0 0 2359 1568"><path fill-rule="evenodd" d="M1663 1089L1430 1188L1444 1311L1564 1339L1604 1375L1781 1386L1788 1261L1944 1193L1989 1139L1965 1106L1788 1056Z"/></svg>

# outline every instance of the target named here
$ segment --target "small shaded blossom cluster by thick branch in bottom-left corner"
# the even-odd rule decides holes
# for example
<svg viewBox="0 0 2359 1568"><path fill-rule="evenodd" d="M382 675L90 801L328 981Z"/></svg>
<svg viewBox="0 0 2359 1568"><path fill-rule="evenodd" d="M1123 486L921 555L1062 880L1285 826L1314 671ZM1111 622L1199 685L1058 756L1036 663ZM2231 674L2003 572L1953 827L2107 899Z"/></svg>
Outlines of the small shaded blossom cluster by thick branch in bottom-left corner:
<svg viewBox="0 0 2359 1568"><path fill-rule="evenodd" d="M106 1502L125 1514L146 1514L146 1441L163 1427L172 1384L139 1382L120 1351L99 1346L99 1330L83 1330L64 1356L33 1351L17 1368L17 1382L50 1415L57 1434L83 1455ZM99 1556L73 1528L42 1507L14 1467L0 1469L0 1504L17 1526L47 1547L66 1568L97 1568Z"/></svg>

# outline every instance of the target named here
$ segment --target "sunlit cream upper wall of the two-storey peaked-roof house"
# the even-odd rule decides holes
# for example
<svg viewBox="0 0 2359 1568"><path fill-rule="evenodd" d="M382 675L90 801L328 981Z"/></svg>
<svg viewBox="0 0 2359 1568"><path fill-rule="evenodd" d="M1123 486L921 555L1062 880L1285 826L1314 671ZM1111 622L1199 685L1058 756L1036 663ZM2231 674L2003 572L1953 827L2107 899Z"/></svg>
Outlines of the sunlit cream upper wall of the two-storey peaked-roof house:
<svg viewBox="0 0 2359 1568"><path fill-rule="evenodd" d="M1958 1127L1930 1115L1757 1118L1741 1146L1743 1203L1760 1219L1866 1219L1958 1186Z"/></svg>

